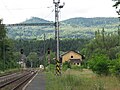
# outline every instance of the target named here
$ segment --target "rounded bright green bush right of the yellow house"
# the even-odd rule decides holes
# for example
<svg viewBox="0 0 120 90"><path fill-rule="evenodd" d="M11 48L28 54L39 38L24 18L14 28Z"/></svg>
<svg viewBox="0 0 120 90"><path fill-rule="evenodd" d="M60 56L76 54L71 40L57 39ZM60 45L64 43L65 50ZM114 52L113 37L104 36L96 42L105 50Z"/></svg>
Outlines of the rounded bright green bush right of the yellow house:
<svg viewBox="0 0 120 90"><path fill-rule="evenodd" d="M109 74L109 60L105 55L95 55L88 62L89 68L99 75Z"/></svg>

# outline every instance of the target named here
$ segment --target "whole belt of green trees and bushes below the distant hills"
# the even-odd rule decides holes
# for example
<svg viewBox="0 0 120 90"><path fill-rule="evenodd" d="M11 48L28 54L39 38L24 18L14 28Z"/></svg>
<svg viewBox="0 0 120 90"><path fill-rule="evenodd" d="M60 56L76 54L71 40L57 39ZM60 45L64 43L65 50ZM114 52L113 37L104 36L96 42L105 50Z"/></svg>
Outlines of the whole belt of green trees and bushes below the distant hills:
<svg viewBox="0 0 120 90"><path fill-rule="evenodd" d="M120 29L119 27L114 29L115 32L108 32L108 28L100 28L94 31L93 38L60 38L60 54L69 50L80 52L85 55L84 67L89 67L97 74L118 74L120 72L118 67L120 66ZM54 38L26 39L21 36L13 39L7 35L8 30L4 24L0 24L0 30L0 71L19 67L21 49L26 56L27 67L31 66L31 62L33 67L38 67L39 64L47 66L48 48L51 52L51 63L55 64ZM104 71L100 71L103 67Z"/></svg>

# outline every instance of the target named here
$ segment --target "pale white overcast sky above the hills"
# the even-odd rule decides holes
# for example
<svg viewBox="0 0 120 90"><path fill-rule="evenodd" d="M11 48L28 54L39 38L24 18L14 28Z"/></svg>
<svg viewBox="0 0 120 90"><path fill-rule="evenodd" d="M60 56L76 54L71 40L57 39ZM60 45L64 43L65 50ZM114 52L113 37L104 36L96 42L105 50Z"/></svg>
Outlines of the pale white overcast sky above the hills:
<svg viewBox="0 0 120 90"><path fill-rule="evenodd" d="M59 20L74 17L118 17L112 0L60 0L65 6ZM53 0L0 0L0 18L5 24L20 23L31 17L54 21Z"/></svg>

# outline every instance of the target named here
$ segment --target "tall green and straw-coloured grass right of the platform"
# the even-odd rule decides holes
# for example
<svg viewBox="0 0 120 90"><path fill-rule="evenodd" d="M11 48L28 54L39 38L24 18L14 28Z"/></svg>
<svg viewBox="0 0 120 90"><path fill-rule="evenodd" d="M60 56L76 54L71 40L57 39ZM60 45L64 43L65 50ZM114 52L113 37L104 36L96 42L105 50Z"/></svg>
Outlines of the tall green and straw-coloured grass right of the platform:
<svg viewBox="0 0 120 90"><path fill-rule="evenodd" d="M97 76L92 71L67 70L61 76L46 72L46 90L120 90L120 80L112 76Z"/></svg>

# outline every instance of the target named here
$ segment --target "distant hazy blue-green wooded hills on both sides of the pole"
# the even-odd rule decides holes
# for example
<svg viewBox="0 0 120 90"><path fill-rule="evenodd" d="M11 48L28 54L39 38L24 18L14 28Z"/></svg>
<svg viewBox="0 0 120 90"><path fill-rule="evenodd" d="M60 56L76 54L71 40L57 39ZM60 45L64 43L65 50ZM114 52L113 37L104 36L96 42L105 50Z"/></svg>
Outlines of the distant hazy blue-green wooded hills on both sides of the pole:
<svg viewBox="0 0 120 90"><path fill-rule="evenodd" d="M53 23L37 17L32 17L22 23ZM119 25L118 18L71 18L60 22L60 38L94 38L94 32L103 27L113 33ZM54 38L54 26L15 26L7 27L7 35L12 39L43 39Z"/></svg>

